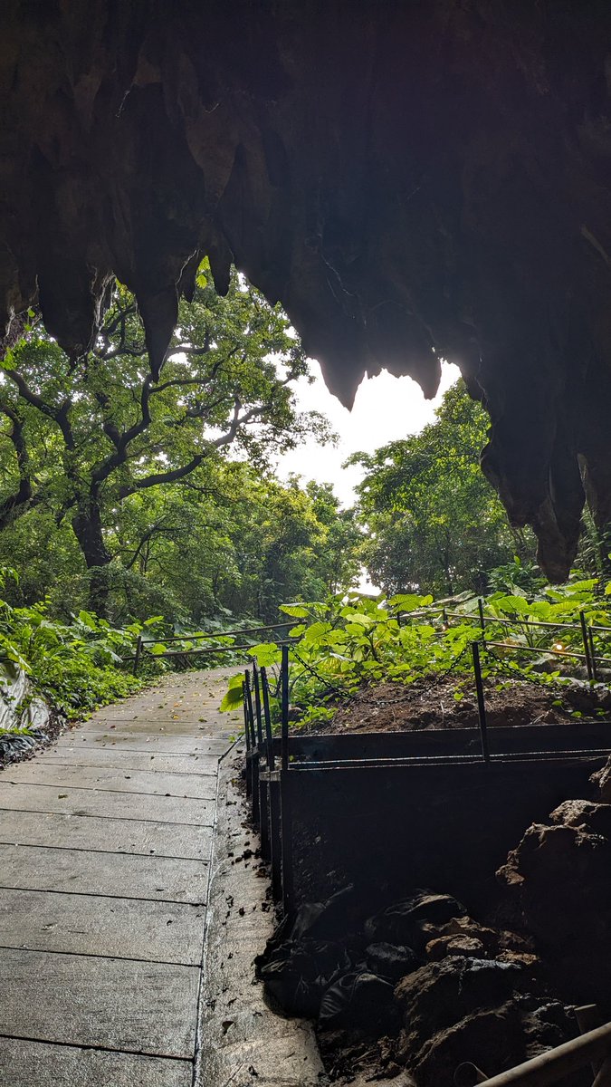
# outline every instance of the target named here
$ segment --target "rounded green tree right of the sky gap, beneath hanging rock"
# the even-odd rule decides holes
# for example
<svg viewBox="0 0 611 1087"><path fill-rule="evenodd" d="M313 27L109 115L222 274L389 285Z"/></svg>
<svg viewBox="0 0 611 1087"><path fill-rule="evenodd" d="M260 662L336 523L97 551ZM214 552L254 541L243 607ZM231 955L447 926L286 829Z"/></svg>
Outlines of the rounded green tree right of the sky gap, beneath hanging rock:
<svg viewBox="0 0 611 1087"><path fill-rule="evenodd" d="M435 423L349 463L365 470L359 517L369 533L365 565L392 592L486 590L486 572L528 558L531 538L513 532L479 468L488 418L459 382Z"/></svg>

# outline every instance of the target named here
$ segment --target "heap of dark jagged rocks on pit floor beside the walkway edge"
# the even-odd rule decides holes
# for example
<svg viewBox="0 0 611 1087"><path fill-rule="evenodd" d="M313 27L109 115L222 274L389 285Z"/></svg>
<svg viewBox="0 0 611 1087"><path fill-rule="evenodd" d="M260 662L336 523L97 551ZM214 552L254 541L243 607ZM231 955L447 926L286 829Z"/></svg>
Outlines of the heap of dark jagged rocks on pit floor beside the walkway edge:
<svg viewBox="0 0 611 1087"><path fill-rule="evenodd" d="M273 1007L316 1019L327 1069L369 1060L373 1078L433 1087L465 1060L492 1075L577 1033L526 937L428 890L364 923L353 907L346 892L302 905L258 959Z"/></svg>

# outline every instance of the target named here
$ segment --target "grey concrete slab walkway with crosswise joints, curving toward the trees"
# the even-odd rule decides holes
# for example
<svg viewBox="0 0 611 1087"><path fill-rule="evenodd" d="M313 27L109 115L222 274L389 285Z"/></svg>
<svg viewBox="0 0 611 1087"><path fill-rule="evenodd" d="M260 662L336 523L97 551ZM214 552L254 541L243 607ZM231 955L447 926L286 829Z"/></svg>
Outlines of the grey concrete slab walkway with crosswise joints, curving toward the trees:
<svg viewBox="0 0 611 1087"><path fill-rule="evenodd" d="M0 1084L191 1087L227 670L0 774Z"/></svg>

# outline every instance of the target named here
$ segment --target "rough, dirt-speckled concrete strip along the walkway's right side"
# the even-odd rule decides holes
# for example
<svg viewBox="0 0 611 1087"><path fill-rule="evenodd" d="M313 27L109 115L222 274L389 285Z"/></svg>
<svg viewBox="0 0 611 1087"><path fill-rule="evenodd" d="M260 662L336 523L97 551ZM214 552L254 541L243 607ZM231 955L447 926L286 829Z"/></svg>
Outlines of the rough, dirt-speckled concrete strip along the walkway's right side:
<svg viewBox="0 0 611 1087"><path fill-rule="evenodd" d="M312 1025L275 1015L254 982L252 961L272 935L274 916L269 882L249 855L258 842L238 785L242 755L238 740L219 760L194 1085L320 1087L326 1077Z"/></svg>

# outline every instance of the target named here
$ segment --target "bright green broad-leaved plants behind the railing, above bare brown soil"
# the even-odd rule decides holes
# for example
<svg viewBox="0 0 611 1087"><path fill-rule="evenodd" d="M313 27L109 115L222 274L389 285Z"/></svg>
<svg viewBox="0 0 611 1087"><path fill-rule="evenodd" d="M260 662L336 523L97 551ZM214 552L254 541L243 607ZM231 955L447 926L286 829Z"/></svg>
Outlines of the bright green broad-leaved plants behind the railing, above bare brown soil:
<svg viewBox="0 0 611 1087"><path fill-rule="evenodd" d="M608 590L609 586L604 594ZM485 678L561 685L579 666L572 655L583 653L579 613L588 625L611 623L604 594L596 578L574 577L562 588L545 586L536 599L502 591L487 597ZM382 680L410 684L452 673L454 698L460 701L462 680L472 679L471 645L482 639L478 604L469 596L451 607L445 603L435 604L431 596L419 594L372 599L351 592L324 602L282 605L285 614L299 621L290 632L296 639L290 649L290 697L301 711L300 723L329 720L339 700L364 684ZM533 625L537 623L560 626ZM597 633L597 653L611 652L610 635L611 630ZM273 644L255 647L252 655L267 667L280 660ZM222 709L239 704L240 683L240 678L232 682ZM277 717L277 699L273 704Z"/></svg>

